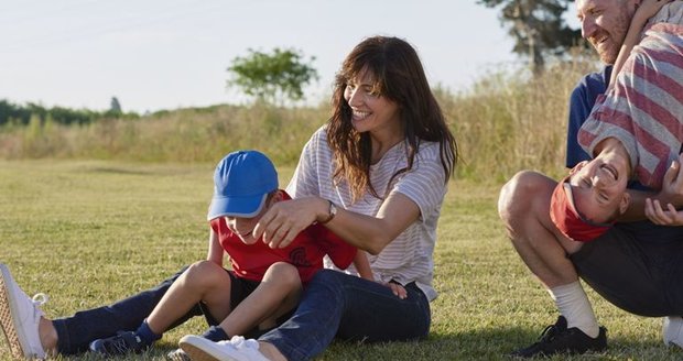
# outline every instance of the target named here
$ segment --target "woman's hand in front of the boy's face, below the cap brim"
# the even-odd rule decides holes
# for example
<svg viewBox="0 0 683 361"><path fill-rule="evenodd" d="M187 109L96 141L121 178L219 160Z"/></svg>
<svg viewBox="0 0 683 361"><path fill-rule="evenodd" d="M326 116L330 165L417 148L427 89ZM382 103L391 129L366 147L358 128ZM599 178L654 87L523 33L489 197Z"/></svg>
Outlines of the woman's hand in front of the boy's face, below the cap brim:
<svg viewBox="0 0 683 361"><path fill-rule="evenodd" d="M263 237L270 248L285 248L306 227L327 217L329 203L318 197L282 200L270 206L253 228L253 237Z"/></svg>

